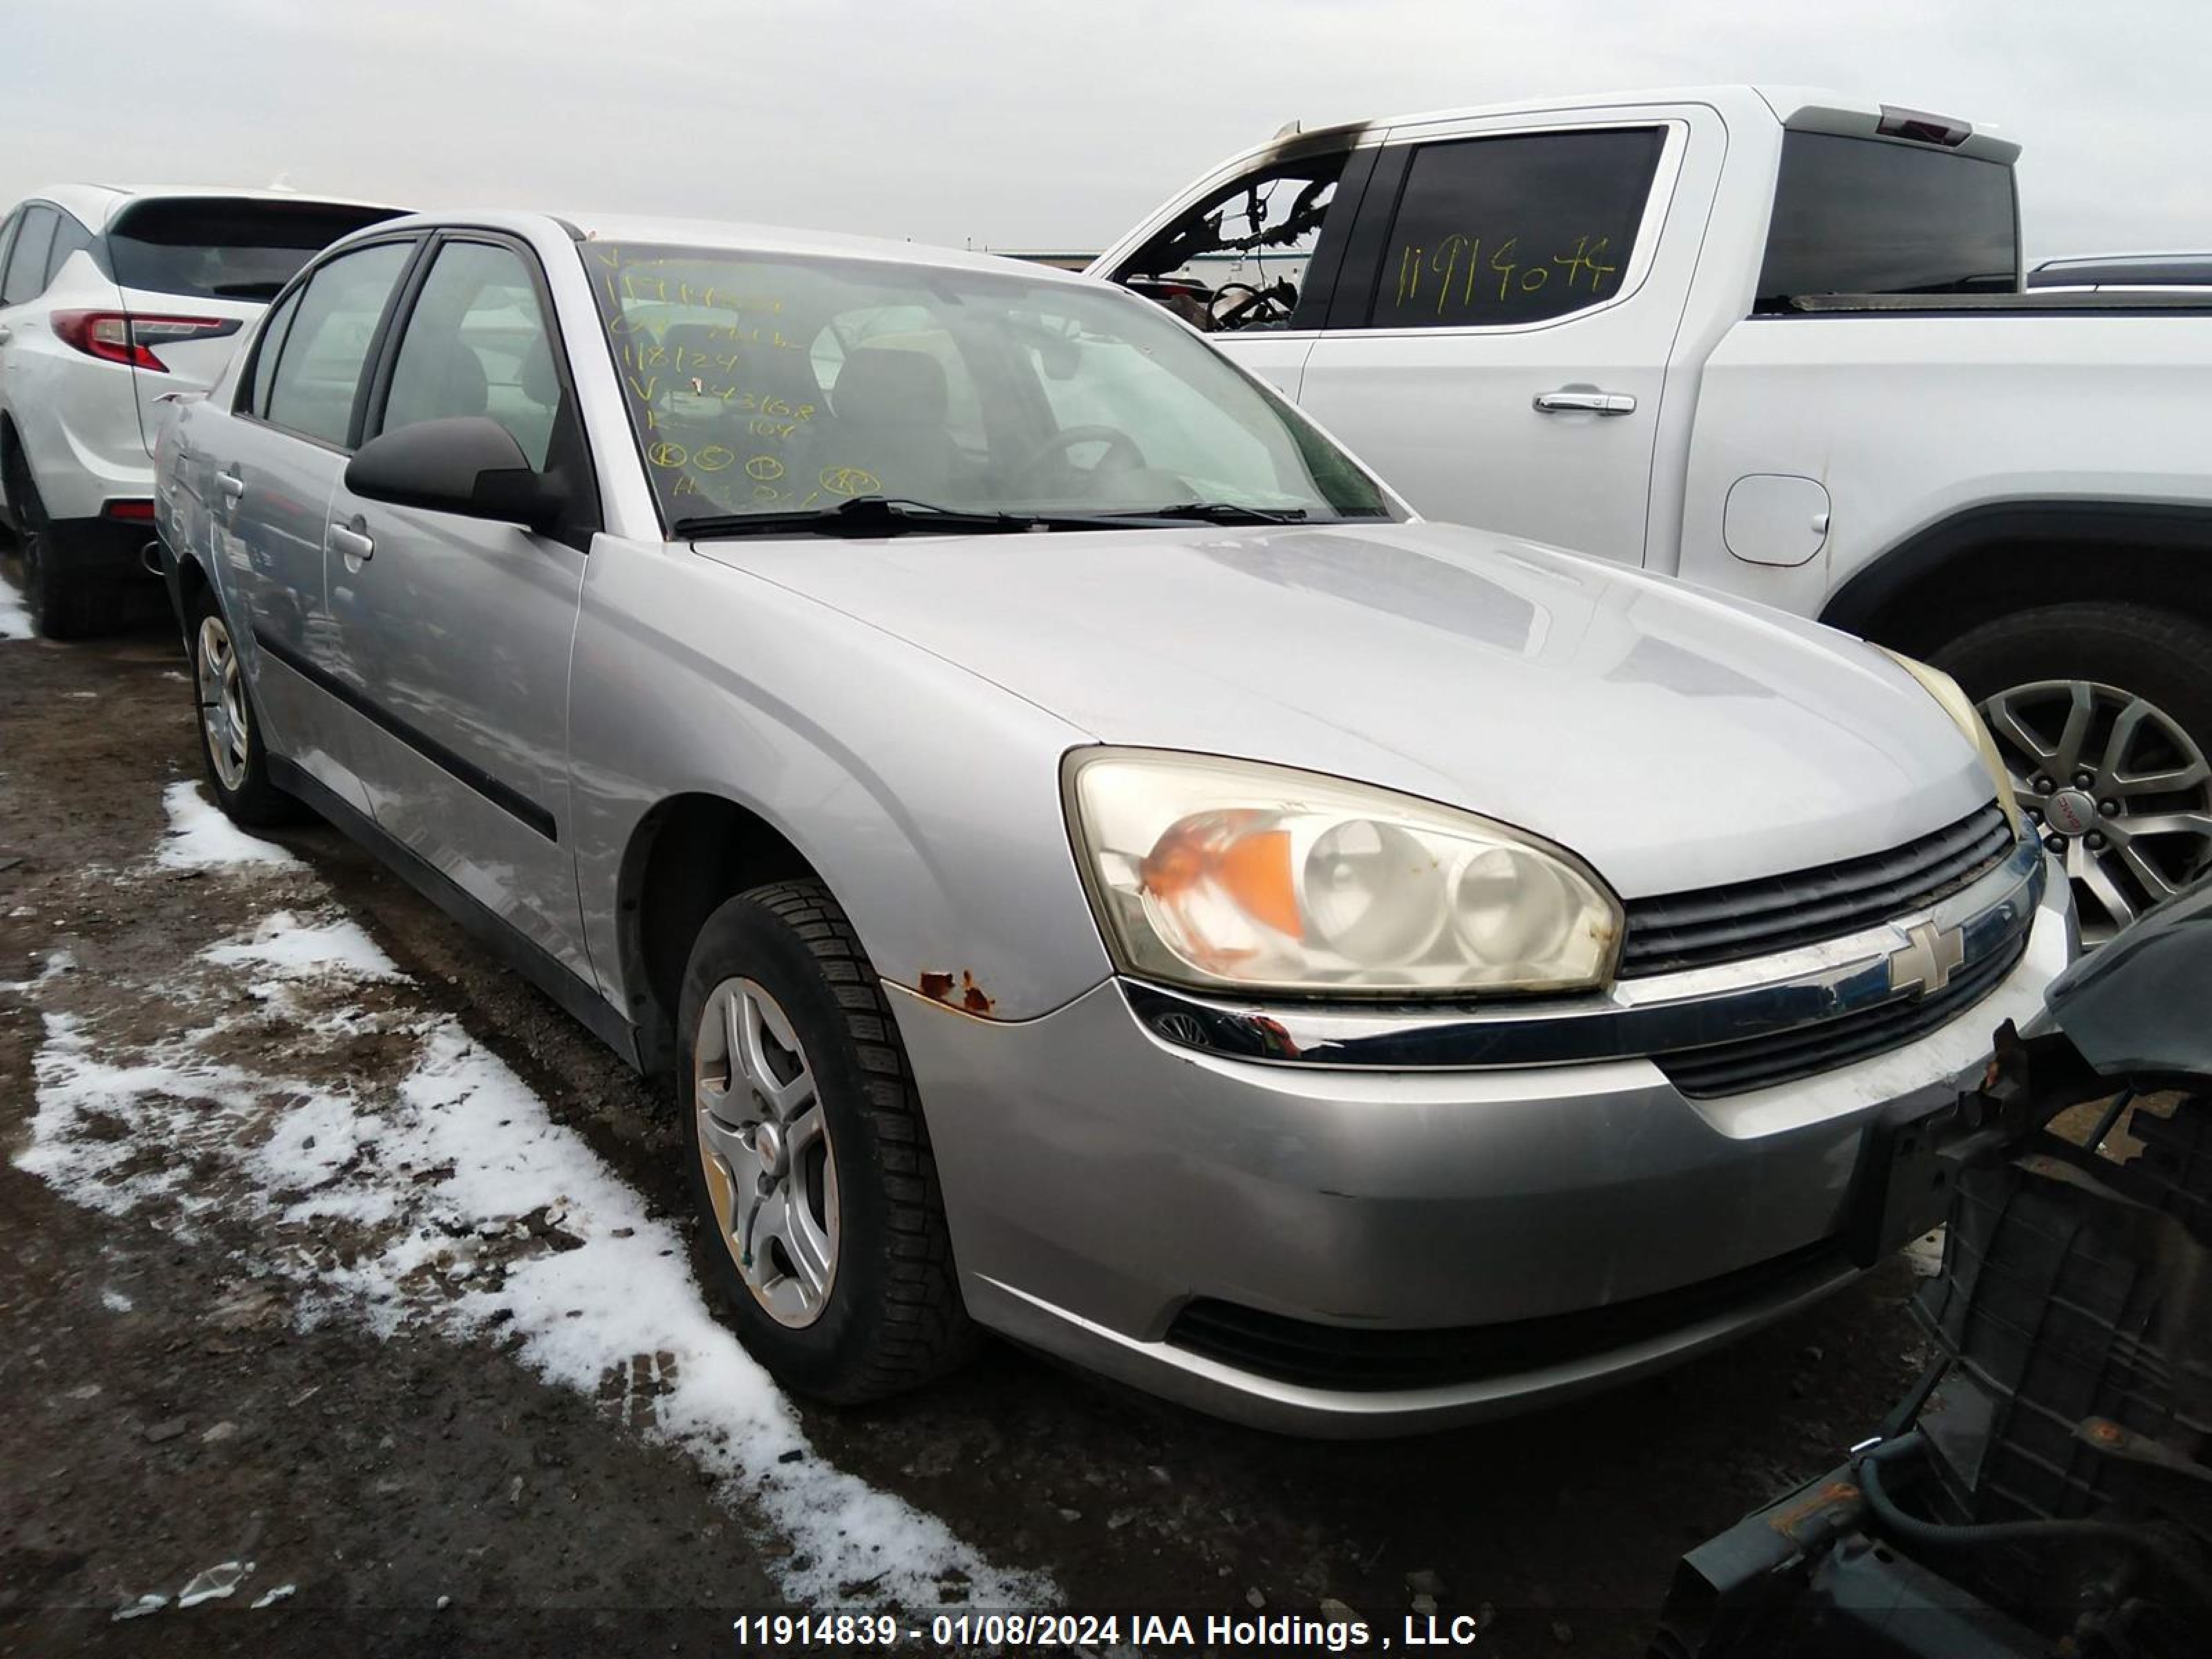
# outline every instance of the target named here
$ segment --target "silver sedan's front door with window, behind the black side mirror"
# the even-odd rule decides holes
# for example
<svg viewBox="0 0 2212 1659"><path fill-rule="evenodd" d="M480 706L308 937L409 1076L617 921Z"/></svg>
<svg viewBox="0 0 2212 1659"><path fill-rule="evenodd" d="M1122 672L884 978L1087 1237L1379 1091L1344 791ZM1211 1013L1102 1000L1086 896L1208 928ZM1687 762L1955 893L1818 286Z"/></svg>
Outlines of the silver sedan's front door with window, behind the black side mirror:
<svg viewBox="0 0 2212 1659"><path fill-rule="evenodd" d="M367 431L487 416L591 498L538 254L489 232L429 252ZM604 347L602 347L604 349ZM591 978L568 823L568 648L597 520L535 535L349 493L330 502L336 672L372 710L361 776L380 830Z"/></svg>

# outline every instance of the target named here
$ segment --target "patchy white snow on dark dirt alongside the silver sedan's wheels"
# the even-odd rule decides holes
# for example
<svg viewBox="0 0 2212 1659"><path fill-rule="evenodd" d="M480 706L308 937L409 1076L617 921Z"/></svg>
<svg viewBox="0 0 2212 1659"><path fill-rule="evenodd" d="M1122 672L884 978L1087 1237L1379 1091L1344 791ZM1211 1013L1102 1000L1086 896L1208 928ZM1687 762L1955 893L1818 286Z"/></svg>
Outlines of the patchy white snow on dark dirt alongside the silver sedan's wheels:
<svg viewBox="0 0 2212 1659"><path fill-rule="evenodd" d="M161 863L184 863L170 858L179 841L192 863L276 863L228 825L252 852L226 849L195 785L170 787L168 805L179 834ZM272 872L234 878L257 874ZM150 964L153 1018L58 1006L80 975L27 987L46 1040L20 1168L80 1203L230 1243L241 1274L290 1281L303 1323L498 1340L546 1380L617 1405L790 1540L774 1571L799 1604L1055 1597L823 1462L703 1303L684 1234L349 918L305 911L299 883L281 894L292 909L181 973ZM363 1066L365 1051L394 1062Z"/></svg>

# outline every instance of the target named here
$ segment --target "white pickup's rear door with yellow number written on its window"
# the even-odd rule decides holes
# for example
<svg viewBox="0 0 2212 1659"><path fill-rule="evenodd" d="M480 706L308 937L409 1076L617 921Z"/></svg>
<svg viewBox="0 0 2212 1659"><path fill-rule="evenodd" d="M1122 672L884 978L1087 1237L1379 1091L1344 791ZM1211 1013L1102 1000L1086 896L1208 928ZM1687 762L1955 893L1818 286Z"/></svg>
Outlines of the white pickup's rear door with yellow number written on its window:
<svg viewBox="0 0 2212 1659"><path fill-rule="evenodd" d="M1394 128L1301 405L1427 518L1641 564L1721 148L1703 106Z"/></svg>

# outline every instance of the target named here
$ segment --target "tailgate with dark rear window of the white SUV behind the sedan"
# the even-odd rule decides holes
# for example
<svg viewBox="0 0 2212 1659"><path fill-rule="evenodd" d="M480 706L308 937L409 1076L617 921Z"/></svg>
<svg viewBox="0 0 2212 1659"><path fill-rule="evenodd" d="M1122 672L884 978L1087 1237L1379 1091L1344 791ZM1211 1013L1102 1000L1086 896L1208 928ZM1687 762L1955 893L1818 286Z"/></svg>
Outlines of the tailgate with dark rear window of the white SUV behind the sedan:
<svg viewBox="0 0 2212 1659"><path fill-rule="evenodd" d="M131 319L139 427L153 449L159 400L215 383L239 336L338 237L389 208L259 197L139 197L106 228L106 263Z"/></svg>

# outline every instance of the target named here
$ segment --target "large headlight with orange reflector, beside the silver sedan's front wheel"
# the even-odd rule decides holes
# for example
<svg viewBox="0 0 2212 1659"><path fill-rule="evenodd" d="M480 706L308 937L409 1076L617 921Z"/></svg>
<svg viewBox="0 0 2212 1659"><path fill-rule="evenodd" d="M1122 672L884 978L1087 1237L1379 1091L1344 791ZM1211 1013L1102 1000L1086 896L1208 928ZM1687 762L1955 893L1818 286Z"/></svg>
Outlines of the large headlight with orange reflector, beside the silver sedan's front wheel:
<svg viewBox="0 0 2212 1659"><path fill-rule="evenodd" d="M1208 991L1606 984L1621 907L1573 854L1433 801L1256 761L1075 750L1068 825L1117 967Z"/></svg>

